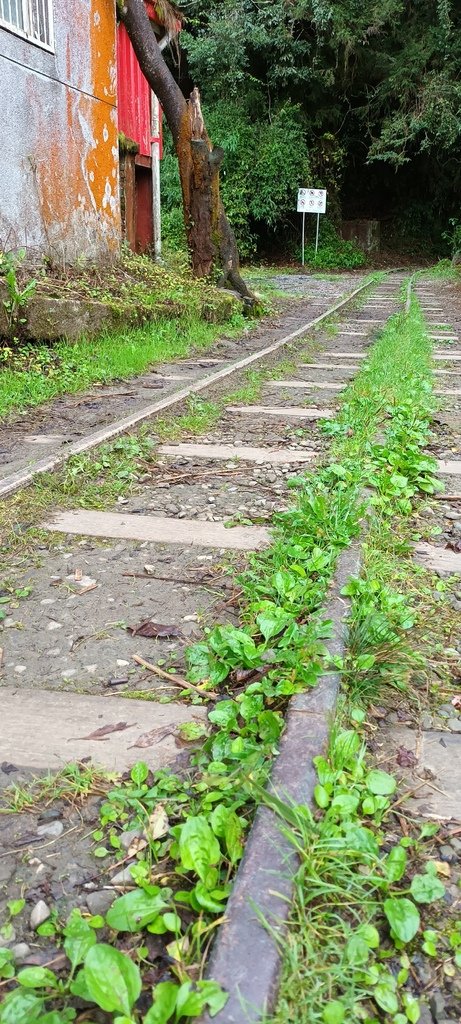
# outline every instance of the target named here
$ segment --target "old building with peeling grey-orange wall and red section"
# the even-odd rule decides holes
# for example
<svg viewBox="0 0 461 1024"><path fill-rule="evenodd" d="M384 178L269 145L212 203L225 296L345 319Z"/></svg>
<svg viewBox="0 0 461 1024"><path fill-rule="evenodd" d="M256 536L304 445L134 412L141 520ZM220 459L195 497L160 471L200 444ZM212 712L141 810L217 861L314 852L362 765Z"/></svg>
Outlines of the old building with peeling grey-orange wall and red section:
<svg viewBox="0 0 461 1024"><path fill-rule="evenodd" d="M137 151L125 168L133 179L123 203L126 234L133 248L153 244L157 108L129 40L117 32L115 0L0 0L0 248L25 246L60 264L116 254L119 131Z"/></svg>

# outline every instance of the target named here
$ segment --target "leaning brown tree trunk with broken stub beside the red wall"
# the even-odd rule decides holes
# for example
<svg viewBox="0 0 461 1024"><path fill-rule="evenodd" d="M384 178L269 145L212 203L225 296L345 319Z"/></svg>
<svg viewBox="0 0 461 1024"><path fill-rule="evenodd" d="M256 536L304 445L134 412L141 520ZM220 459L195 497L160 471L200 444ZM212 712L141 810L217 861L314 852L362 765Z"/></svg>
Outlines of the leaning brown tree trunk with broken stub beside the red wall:
<svg viewBox="0 0 461 1024"><path fill-rule="evenodd" d="M194 273L206 278L219 267L219 284L229 284L241 295L253 299L240 273L236 238L219 195L224 153L209 139L199 91L194 89L188 100L182 95L162 56L143 0L120 0L119 13L173 136Z"/></svg>

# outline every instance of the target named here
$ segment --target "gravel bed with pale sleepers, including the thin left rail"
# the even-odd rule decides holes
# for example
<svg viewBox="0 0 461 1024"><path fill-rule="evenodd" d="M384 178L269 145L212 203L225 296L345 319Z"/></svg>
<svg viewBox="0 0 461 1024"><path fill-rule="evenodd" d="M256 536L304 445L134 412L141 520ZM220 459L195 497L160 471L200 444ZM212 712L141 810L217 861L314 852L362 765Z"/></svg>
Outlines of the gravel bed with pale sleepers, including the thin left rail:
<svg viewBox="0 0 461 1024"><path fill-rule="evenodd" d="M404 275L396 273L382 284L361 286L268 349L206 374L155 403L158 413L166 404L176 408L185 394L213 397L216 388L224 384L228 388L229 379L239 380L249 367L270 370L257 403L224 403L204 436L159 444L142 482L115 507L100 511L77 503L75 508L49 509L44 514L44 532L34 546L40 564L25 567L18 556L8 566L17 589L32 588L20 605L20 628L15 626L15 613L4 624L2 684L16 688L16 697L11 696L11 749L18 740L25 701L31 703L31 716L40 714L38 697L43 689L56 691L62 722L56 722L50 746L45 743L37 754L32 748L29 753L24 750L25 765L34 764L35 757L36 766L37 759L40 766L47 766L50 757L60 756L62 746L68 759L103 754L109 763L117 749L118 765L133 760L131 738L122 733L110 737L103 751L97 742L68 743L70 735L79 735L69 722L66 725L70 694L75 694L77 709L79 701L85 702L84 694L107 705L111 692L114 709L115 693L149 690L151 697L164 697L165 680L133 664L134 654L152 660L152 638L133 637L126 627L135 629L148 618L171 624L170 634L164 630L154 642L155 657L166 667L174 665L180 674L183 648L205 625L219 616L237 620L228 600L232 583L219 566L228 557L242 564L244 552L269 544L274 514L289 501L287 479L325 458L328 442L320 423L334 415L341 390L358 372L381 326L402 307L403 281ZM361 293L360 308L350 310L351 300L360 300ZM303 337L333 312L341 316L335 333L316 335L317 352L307 362ZM288 376L279 378L277 359L287 349L292 367ZM112 425L111 436L148 417L155 439L153 408L136 413L129 423ZM77 447L89 450L95 443L94 437L86 438ZM50 461L46 467L35 465L32 476L50 468ZM3 486L16 488L19 482ZM87 716L88 708L81 706ZM89 707L96 714L96 705ZM40 730L36 735L42 736ZM168 740L166 749L170 756Z"/></svg>

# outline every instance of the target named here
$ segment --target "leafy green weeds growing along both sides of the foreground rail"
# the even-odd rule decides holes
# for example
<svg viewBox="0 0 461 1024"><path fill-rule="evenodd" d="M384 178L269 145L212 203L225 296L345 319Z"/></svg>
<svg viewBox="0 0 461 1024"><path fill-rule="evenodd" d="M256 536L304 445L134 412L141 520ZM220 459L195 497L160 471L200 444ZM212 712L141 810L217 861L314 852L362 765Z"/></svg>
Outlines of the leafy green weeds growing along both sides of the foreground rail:
<svg viewBox="0 0 461 1024"><path fill-rule="evenodd" d="M17 987L2 1005L1 1024L19 1021L20 1015L25 1021L64 1024L76 1017L76 997L117 1024L166 1024L198 1016L205 1007L214 1014L224 1005L225 993L201 980L198 965L222 920L286 701L313 686L325 668L328 624L322 605L337 555L360 529L364 485L371 488L372 526L408 516L412 499L436 486L434 463L423 454L431 409L429 346L413 303L408 315L391 319L347 389L338 420L326 423L332 461L291 481L293 504L278 517L273 546L253 555L241 574L241 628L215 626L188 649L188 680L197 686L193 699L202 694L211 701L208 726L192 722L184 730L183 738L200 742L192 758L194 774L152 773L140 762L101 806L95 855L103 860L121 850L121 834L135 829L128 851L136 861L130 869L133 888L115 900L106 919L74 910L68 922L52 924L72 966L64 977L49 968L15 973L8 951L3 954L4 976ZM376 443L370 438L379 425L385 432ZM362 621L376 612L369 595L367 601ZM408 616L390 593L376 601L386 621L408 628ZM359 651L355 669L373 668L373 656ZM412 840L381 849L395 782L365 764L358 733L364 713L352 718L355 728L337 731L330 758L318 760L316 797L325 813L318 820L304 808L295 812L295 821L294 812L289 818L301 859L297 948L316 970L306 976L302 965L300 1009L300 964L290 947L280 1020L372 1020L374 1004L394 1024L416 1024L406 946L420 934L419 905L439 899L444 886L432 862L415 873L414 854L419 856L430 828L416 845ZM433 945L429 926L424 918L424 943ZM148 984L141 996L153 934L165 936L169 977L152 993ZM138 938L127 953L126 939L133 935ZM447 936L450 956L459 957L460 945L455 928ZM387 968L387 956L400 961L396 973Z"/></svg>

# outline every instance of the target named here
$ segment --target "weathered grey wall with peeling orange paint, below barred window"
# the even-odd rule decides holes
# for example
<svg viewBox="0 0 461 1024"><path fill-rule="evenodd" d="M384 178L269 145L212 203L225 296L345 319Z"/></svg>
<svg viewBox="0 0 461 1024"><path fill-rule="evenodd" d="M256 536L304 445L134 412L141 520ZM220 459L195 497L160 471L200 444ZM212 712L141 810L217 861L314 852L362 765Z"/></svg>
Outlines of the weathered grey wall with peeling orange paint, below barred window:
<svg viewBox="0 0 461 1024"><path fill-rule="evenodd" d="M115 0L54 0L54 53L0 28L0 248L120 245Z"/></svg>

